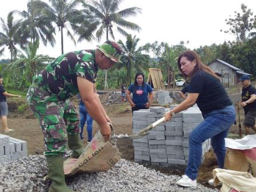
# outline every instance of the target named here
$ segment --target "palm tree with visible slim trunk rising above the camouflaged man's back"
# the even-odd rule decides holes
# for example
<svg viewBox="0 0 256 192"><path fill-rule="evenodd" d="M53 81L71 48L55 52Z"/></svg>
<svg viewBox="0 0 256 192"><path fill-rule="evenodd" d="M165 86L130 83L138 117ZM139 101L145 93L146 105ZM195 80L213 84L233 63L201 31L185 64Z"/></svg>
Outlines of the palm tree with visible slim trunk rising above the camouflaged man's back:
<svg viewBox="0 0 256 192"><path fill-rule="evenodd" d="M61 31L61 53L63 54L63 29L67 30L67 36L71 38L76 45L75 39L73 37L71 29L78 30L79 24L86 20L85 15L82 14L82 11L75 9L81 2L81 0L72 0L69 3L66 3L66 0L49 0L51 6L45 3L45 8L42 10L42 14L46 15L50 21L54 22L59 31ZM88 13L87 13L88 14Z"/></svg>

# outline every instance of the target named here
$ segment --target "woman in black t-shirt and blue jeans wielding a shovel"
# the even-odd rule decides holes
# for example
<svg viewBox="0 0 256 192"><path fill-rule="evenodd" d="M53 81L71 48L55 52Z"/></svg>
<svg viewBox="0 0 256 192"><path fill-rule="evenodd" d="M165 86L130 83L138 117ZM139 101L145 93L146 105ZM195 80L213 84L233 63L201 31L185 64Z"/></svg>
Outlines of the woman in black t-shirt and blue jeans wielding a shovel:
<svg viewBox="0 0 256 192"><path fill-rule="evenodd" d="M185 101L166 113L165 121L169 121L175 113L188 109L194 103L197 103L204 118L189 135L189 162L185 175L177 182L178 185L191 187L197 186L202 143L209 138L219 168L223 169L226 154L225 138L235 121L235 108L217 75L202 64L194 51L187 50L179 55L178 67L186 79L191 78L189 94ZM213 179L209 184L214 184Z"/></svg>

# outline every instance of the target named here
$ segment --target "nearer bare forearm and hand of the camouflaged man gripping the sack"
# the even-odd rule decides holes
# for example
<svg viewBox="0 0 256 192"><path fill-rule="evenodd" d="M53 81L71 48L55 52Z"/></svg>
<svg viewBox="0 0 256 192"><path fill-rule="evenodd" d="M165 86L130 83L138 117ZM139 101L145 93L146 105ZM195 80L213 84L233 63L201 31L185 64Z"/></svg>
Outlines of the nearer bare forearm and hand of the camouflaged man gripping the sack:
<svg viewBox="0 0 256 192"><path fill-rule="evenodd" d="M105 138L105 141L109 140L111 130L107 123L105 115L102 113L101 107L98 101L95 99L94 85L92 82L88 81L83 77L77 77L78 90L83 103L86 106L91 118L93 118L99 125L101 134Z"/></svg>

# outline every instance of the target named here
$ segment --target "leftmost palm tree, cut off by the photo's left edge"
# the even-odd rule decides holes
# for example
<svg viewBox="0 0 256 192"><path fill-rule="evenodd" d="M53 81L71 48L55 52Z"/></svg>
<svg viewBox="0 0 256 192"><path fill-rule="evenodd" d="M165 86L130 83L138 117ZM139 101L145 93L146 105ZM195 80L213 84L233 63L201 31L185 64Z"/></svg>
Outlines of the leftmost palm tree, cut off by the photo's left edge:
<svg viewBox="0 0 256 192"><path fill-rule="evenodd" d="M0 24L3 29L3 32L0 32L0 47L4 46L0 50L0 55L2 55L5 48L8 47L11 53L11 62L13 62L13 58L17 55L17 44L20 42L20 34L18 33L19 22L20 21L14 21L13 13L11 12L7 15L7 23L5 23L3 18L0 18Z"/></svg>

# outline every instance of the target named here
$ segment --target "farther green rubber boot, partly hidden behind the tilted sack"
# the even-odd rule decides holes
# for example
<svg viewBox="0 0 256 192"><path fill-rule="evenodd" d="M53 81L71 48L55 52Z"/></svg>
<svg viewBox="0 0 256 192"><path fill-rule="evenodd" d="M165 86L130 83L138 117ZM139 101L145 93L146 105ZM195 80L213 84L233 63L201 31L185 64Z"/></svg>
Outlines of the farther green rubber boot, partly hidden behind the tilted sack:
<svg viewBox="0 0 256 192"><path fill-rule="evenodd" d="M69 145L69 149L73 150L72 158L78 159L83 152L83 145L80 139L80 135L67 135L67 145Z"/></svg>

